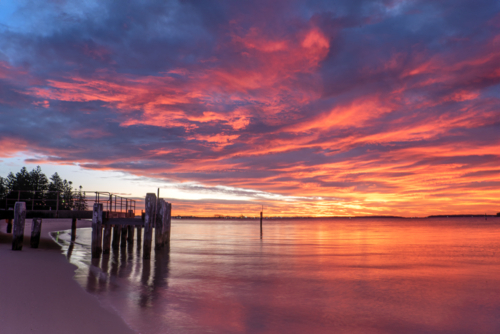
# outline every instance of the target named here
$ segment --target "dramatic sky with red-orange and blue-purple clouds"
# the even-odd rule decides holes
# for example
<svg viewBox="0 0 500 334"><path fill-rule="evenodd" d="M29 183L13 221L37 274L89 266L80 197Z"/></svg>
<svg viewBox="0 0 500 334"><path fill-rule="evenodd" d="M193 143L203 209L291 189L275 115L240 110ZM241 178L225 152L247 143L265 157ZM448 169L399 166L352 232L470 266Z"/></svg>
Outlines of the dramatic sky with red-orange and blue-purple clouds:
<svg viewBox="0 0 500 334"><path fill-rule="evenodd" d="M500 2L0 0L0 175L173 213L500 211Z"/></svg>

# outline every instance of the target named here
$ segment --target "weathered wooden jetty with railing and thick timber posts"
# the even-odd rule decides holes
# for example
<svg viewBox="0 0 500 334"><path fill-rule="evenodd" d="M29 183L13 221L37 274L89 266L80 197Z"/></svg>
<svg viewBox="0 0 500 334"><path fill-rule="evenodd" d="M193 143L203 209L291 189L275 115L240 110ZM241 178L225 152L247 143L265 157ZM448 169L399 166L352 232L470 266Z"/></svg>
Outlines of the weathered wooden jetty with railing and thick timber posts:
<svg viewBox="0 0 500 334"><path fill-rule="evenodd" d="M23 247L24 227L27 218L32 219L30 247L38 248L43 219L71 219L71 241L76 239L78 219L92 219L92 258L109 254L111 248L119 249L132 243L137 233L137 242L143 243L143 257L151 257L154 231L154 248L161 249L170 245L172 204L146 194L145 212L136 217L136 200L117 196L109 192L94 192L92 210L59 210L59 196L55 210L35 210L35 198L15 201L12 210L0 210L0 219L7 222L7 233L12 233L12 250ZM9 201L12 199L6 199ZM27 210L31 204L31 210ZM6 205L7 206L7 205ZM86 206L86 205L85 205ZM84 206L84 207L85 207Z"/></svg>

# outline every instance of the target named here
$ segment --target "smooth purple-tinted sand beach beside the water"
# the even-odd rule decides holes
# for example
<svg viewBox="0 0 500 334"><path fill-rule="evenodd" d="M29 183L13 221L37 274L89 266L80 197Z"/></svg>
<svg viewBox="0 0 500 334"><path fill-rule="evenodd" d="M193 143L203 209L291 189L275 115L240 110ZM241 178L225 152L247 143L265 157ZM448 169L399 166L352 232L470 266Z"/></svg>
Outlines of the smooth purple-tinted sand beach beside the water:
<svg viewBox="0 0 500 334"><path fill-rule="evenodd" d="M78 227L90 227L78 221ZM22 251L12 251L12 235L0 221L0 333L135 333L116 314L73 280L75 266L52 241L50 231L71 227L71 220L46 219L38 249L29 247L26 219Z"/></svg>

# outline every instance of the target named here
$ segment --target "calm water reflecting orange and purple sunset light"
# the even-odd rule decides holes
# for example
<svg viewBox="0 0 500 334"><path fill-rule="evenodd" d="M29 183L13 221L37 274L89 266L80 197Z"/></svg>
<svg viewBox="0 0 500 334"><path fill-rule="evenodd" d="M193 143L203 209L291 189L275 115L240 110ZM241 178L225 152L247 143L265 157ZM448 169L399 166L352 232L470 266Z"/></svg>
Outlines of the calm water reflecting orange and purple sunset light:
<svg viewBox="0 0 500 334"><path fill-rule="evenodd" d="M140 333L500 333L500 218L173 220L76 280Z"/></svg>

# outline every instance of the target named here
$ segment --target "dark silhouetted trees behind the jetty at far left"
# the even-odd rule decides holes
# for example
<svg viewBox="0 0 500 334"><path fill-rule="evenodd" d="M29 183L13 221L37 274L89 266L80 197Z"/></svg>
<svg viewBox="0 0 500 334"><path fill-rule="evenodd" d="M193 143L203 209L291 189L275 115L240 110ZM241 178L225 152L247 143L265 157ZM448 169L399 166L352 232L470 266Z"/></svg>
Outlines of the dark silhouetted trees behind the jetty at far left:
<svg viewBox="0 0 500 334"><path fill-rule="evenodd" d="M63 180L57 173L49 179L40 166L31 172L23 167L16 174L0 176L0 209L14 207L18 198L26 202L28 210L55 210L56 206L59 210L87 209L82 186L74 190L73 182Z"/></svg>

